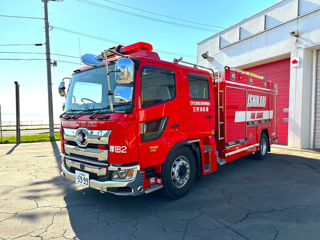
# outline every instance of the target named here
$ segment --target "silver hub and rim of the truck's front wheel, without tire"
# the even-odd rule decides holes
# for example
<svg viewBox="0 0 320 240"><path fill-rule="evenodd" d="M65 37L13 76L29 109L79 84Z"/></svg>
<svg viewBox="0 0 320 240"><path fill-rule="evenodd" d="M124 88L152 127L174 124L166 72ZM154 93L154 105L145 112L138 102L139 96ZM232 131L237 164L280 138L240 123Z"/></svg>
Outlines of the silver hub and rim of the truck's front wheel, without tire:
<svg viewBox="0 0 320 240"><path fill-rule="evenodd" d="M172 165L172 182L176 187L184 186L190 177L189 161L186 157L178 157Z"/></svg>

